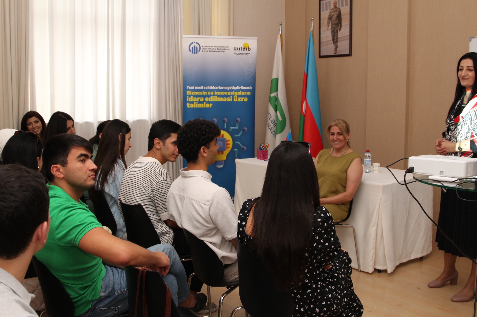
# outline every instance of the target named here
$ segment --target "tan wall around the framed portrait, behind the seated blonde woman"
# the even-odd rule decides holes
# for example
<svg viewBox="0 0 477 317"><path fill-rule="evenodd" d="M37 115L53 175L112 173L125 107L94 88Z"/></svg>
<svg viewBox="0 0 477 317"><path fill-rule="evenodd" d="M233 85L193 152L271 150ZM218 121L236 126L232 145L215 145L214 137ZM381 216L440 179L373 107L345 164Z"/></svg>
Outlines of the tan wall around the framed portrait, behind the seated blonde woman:
<svg viewBox="0 0 477 317"><path fill-rule="evenodd" d="M301 85L311 17L318 0L285 0L285 76L293 137L298 137ZM382 166L433 154L456 87L456 63L477 35L465 18L475 0L355 0L351 57L318 58L321 123L350 123L352 146L370 149ZM315 26L318 30L318 26ZM329 146L327 140L323 140ZM407 162L396 168L407 168ZM439 191L436 190L435 210Z"/></svg>

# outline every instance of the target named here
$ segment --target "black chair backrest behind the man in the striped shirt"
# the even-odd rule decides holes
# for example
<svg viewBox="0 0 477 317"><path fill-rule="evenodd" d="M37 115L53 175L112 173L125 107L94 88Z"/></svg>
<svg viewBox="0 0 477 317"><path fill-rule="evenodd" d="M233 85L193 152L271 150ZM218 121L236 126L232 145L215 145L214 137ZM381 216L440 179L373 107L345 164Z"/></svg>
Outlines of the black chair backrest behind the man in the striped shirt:
<svg viewBox="0 0 477 317"><path fill-rule="evenodd" d="M161 243L151 219L142 205L127 205L122 201L124 224L126 225L127 239L135 244L149 248Z"/></svg>

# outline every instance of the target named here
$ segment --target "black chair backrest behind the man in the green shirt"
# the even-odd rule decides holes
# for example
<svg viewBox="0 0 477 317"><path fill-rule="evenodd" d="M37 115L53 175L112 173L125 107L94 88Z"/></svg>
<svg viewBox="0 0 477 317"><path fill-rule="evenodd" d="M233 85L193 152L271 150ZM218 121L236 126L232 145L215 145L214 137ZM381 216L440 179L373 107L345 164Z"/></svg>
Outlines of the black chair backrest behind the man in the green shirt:
<svg viewBox="0 0 477 317"><path fill-rule="evenodd" d="M50 317L74 317L74 304L62 283L39 259L33 257L45 307Z"/></svg>

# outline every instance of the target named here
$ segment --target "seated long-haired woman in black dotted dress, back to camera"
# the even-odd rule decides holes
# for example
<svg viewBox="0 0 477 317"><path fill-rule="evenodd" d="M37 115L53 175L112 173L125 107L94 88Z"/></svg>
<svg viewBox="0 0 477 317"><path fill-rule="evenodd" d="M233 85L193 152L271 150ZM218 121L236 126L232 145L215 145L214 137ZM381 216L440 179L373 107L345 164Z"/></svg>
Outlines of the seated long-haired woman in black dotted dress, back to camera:
<svg viewBox="0 0 477 317"><path fill-rule="evenodd" d="M270 155L262 196L240 210L239 241L277 275L279 289L290 289L293 316L362 316L351 259L319 192L308 150L281 143Z"/></svg>

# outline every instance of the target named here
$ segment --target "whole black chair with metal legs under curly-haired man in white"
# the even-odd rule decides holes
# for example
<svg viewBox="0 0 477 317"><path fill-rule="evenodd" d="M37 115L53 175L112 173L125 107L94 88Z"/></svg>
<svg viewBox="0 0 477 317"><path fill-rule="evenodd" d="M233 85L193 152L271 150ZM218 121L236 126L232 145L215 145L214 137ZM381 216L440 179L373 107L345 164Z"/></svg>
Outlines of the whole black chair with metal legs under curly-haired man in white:
<svg viewBox="0 0 477 317"><path fill-rule="evenodd" d="M230 294L234 289L239 287L239 282L226 283L224 278L224 265L218 258L217 254L212 251L207 244L194 236L192 233L184 230L187 243L190 247L190 253L192 256L192 263L196 271L197 277L207 285L207 300L209 307L209 316L212 316L212 302L210 299L210 287L229 287L228 290L222 294L218 301L217 317L222 316L222 301Z"/></svg>

